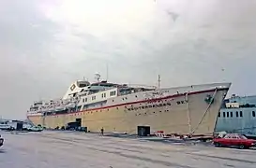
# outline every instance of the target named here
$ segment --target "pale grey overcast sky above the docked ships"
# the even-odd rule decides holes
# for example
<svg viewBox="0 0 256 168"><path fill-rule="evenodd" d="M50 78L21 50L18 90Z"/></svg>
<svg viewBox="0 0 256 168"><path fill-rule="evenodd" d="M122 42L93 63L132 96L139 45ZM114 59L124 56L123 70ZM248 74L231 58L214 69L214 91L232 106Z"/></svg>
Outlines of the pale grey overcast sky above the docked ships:
<svg viewBox="0 0 256 168"><path fill-rule="evenodd" d="M0 115L94 74L163 87L233 82L256 94L255 0L1 0Z"/></svg>

